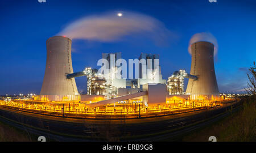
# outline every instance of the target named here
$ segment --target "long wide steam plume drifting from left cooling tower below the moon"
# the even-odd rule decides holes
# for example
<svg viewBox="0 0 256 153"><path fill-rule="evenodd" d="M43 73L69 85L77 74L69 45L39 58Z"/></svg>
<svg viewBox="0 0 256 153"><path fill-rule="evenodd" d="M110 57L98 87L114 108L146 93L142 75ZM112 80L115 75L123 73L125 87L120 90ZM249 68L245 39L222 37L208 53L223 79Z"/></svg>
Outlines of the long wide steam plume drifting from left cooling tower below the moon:
<svg viewBox="0 0 256 153"><path fill-rule="evenodd" d="M87 16L72 22L59 36L70 39L117 41L123 36L147 36L156 44L166 44L171 32L159 20L134 12Z"/></svg>

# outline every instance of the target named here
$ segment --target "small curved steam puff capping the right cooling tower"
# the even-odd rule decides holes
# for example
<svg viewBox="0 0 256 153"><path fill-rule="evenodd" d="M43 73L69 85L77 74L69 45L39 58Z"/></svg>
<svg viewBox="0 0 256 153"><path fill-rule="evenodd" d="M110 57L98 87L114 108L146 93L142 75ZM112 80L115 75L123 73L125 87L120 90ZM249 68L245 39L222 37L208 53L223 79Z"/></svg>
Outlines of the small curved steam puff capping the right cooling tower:
<svg viewBox="0 0 256 153"><path fill-rule="evenodd" d="M191 54L191 45L195 42L198 41L208 41L211 42L214 45L214 56L218 52L218 42L217 39L212 35L212 33L209 32L201 32L201 33L196 33L193 35L189 41L188 45L188 52Z"/></svg>

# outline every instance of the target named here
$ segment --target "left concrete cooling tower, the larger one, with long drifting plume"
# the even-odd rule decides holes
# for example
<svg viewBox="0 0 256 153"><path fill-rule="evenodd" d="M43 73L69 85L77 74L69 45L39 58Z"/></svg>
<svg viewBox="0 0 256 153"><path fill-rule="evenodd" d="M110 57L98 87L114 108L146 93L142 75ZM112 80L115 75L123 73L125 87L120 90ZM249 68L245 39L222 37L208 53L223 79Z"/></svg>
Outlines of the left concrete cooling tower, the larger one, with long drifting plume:
<svg viewBox="0 0 256 153"><path fill-rule="evenodd" d="M67 74L73 73L71 44L71 39L62 36L50 37L46 41L46 71L39 100L80 100L75 78L67 78Z"/></svg>

